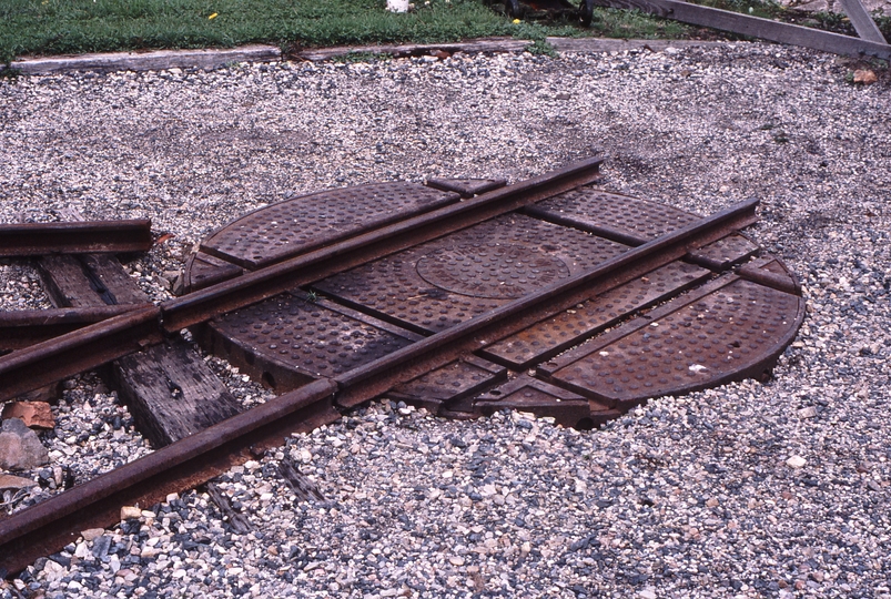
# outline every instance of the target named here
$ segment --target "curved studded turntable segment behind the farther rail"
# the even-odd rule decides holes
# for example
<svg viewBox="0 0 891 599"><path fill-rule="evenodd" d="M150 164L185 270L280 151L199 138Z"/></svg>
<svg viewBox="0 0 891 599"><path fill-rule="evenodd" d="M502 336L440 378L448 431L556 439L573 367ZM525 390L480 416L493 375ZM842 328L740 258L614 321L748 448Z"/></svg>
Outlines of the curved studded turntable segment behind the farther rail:
<svg viewBox="0 0 891 599"><path fill-rule="evenodd" d="M207 237L201 250L256 270L458 199L454 192L408 182L328 190L246 214Z"/></svg>

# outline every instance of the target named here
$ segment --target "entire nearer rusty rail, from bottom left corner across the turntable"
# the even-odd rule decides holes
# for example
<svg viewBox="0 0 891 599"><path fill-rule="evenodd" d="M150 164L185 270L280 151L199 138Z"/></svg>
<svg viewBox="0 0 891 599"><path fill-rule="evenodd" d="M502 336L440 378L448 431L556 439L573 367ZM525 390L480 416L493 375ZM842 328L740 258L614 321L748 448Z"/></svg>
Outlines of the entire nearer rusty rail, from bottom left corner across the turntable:
<svg viewBox="0 0 891 599"><path fill-rule="evenodd" d="M467 349L479 349L540 319L543 313L563 309L579 297L611 288L677 260L690 247L751 224L756 206L757 201L746 202L679 229L588 272L543 287L336 378L317 379L24 509L0 521L0 567L17 571L37 557L63 547L84 528L118 521L121 505L151 505L169 493L193 488L264 448L281 444L290 430L333 422L340 417L335 407L346 408L376 397Z"/></svg>

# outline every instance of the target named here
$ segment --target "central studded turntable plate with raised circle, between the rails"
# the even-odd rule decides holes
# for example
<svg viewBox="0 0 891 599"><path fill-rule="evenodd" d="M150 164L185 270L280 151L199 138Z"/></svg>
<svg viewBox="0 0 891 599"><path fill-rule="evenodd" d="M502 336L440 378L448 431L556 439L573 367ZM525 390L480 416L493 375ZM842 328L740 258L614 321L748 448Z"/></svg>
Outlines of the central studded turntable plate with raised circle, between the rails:
<svg viewBox="0 0 891 599"><path fill-rule="evenodd" d="M627 250L580 231L510 214L314 287L406 328L436 333Z"/></svg>

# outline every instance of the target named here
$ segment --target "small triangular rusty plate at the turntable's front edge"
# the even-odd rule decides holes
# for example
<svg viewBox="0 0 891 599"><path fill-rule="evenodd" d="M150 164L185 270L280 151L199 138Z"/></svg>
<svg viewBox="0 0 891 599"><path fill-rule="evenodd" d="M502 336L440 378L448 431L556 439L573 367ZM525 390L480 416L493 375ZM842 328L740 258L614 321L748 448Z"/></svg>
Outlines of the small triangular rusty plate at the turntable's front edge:
<svg viewBox="0 0 891 599"><path fill-rule="evenodd" d="M609 406L556 387L528 375L520 375L504 385L480 395L473 402L477 414L490 416L499 409L531 412L536 416L551 417L557 424L589 429L621 416Z"/></svg>

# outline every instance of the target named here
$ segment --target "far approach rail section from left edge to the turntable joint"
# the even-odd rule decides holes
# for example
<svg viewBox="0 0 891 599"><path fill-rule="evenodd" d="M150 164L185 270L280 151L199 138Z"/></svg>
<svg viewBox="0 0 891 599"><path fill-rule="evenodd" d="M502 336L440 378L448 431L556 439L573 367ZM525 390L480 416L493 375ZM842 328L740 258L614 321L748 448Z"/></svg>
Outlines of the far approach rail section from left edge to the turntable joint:
<svg viewBox="0 0 891 599"><path fill-rule="evenodd" d="M0 400L161 343L160 311L134 309L0 357Z"/></svg>

